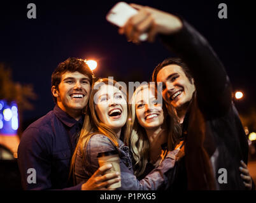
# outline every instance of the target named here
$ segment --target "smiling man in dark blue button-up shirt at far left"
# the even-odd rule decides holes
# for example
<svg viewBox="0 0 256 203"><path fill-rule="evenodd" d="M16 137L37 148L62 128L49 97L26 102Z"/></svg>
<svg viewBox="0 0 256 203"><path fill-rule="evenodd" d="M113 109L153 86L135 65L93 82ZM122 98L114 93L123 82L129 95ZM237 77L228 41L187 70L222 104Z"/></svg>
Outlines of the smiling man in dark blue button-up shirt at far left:
<svg viewBox="0 0 256 203"><path fill-rule="evenodd" d="M73 185L70 162L83 125L94 74L78 58L68 58L52 74L56 105L25 129L18 147L18 166L25 190L100 190L120 179L100 167L86 183ZM32 174L32 171L34 174Z"/></svg>

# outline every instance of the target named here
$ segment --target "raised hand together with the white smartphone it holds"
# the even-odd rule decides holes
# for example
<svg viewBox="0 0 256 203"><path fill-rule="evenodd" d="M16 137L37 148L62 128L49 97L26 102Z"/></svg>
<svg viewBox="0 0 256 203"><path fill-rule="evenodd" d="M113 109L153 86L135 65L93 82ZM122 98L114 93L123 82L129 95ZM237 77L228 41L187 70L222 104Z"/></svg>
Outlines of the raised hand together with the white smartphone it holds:
<svg viewBox="0 0 256 203"><path fill-rule="evenodd" d="M106 19L114 25L122 27L120 34L124 32L127 39L134 42L145 40L153 42L158 34L173 34L183 27L180 18L171 13L138 4L130 6L124 2L117 3L110 10Z"/></svg>

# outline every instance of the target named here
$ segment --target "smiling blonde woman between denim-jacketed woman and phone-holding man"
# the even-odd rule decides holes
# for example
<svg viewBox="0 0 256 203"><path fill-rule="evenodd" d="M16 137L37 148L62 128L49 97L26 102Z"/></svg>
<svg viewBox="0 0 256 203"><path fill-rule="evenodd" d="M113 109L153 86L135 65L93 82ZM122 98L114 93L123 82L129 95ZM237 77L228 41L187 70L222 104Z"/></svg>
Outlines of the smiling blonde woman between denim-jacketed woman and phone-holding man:
<svg viewBox="0 0 256 203"><path fill-rule="evenodd" d="M181 127L175 112L169 109L168 114L166 106L157 98L153 85L139 86L130 106L132 132L126 139L131 145L134 174L141 179L159 166L167 151L182 147Z"/></svg>

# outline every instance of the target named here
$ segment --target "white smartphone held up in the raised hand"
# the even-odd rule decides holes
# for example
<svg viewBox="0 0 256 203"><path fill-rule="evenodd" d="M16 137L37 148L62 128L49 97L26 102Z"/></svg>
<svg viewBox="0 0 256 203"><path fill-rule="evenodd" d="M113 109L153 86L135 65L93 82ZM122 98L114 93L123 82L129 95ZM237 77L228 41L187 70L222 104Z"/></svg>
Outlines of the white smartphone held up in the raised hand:
<svg viewBox="0 0 256 203"><path fill-rule="evenodd" d="M131 16L136 15L136 13L138 13L136 9L121 1L111 8L106 15L106 20L114 25L117 25L118 27L123 27L127 20L129 20ZM146 41L146 39L148 39L148 34L146 33L139 36L140 41Z"/></svg>

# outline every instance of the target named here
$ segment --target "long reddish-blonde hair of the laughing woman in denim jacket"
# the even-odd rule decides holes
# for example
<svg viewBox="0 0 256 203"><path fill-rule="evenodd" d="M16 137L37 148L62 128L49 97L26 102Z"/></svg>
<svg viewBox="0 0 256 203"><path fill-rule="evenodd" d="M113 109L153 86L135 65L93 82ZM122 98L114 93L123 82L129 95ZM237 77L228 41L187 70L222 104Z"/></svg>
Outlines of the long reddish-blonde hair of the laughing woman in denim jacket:
<svg viewBox="0 0 256 203"><path fill-rule="evenodd" d="M83 149L87 148L87 144L89 143L90 138L94 134L99 134L99 133L104 134L112 141L113 145L118 147L117 134L110 127L106 126L106 124L101 122L99 120L99 117L96 114L96 109L95 109L95 105L94 105L94 96L96 95L97 91L99 91L99 89L101 88L101 86L103 84L112 85L112 86L115 86L118 89L120 89L120 91L122 92L122 94L124 95L124 97L126 98L126 101L127 101L127 91L126 91L126 89L124 89L124 86L122 86L117 81L114 81L114 80L108 79L108 78L103 78L103 79L99 79L98 81L96 81L94 83L94 86L92 86L92 91L90 93L89 108L87 108L87 112L85 114L85 120L83 122L83 127L80 132L79 140L76 145L73 157L71 159L71 167L70 167L69 177L71 176L71 174L74 175L75 161L76 161L76 155L78 153L78 150L80 150L80 152L83 152ZM127 108L128 108L128 105L127 105ZM124 136L127 136L127 134L131 133L131 122L129 122L129 118L131 118L131 111L128 109L127 110L127 121L125 123L125 126L122 128L122 133L124 133ZM85 153L82 153L82 155L83 155L83 161L86 161ZM75 180L74 176L73 176L73 178Z"/></svg>

